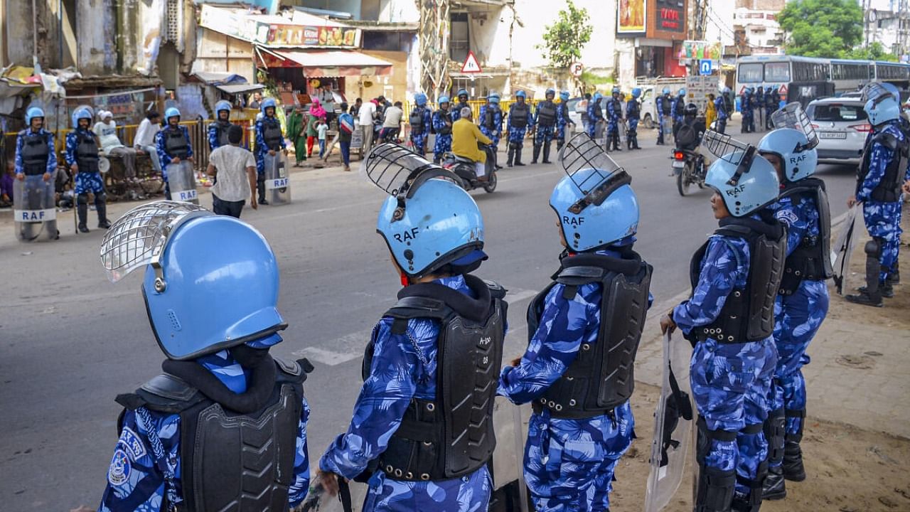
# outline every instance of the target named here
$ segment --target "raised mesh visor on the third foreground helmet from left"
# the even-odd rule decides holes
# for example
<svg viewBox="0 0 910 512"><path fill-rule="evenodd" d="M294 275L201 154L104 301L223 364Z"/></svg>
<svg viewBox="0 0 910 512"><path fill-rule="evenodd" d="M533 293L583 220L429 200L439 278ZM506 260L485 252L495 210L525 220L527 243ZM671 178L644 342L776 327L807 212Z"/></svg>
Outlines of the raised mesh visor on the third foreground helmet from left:
<svg viewBox="0 0 910 512"><path fill-rule="evenodd" d="M572 137L560 150L562 169L585 197L571 207L574 213L589 204L601 204L613 190L632 178L586 133ZM587 171L591 172L581 172ZM583 204L582 204L583 203Z"/></svg>

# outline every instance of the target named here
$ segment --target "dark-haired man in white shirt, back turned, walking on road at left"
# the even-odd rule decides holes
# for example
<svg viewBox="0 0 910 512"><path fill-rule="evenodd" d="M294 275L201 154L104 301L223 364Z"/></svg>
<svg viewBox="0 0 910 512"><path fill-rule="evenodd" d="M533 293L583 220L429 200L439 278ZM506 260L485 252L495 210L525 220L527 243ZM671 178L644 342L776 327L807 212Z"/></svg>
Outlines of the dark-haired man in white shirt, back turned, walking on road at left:
<svg viewBox="0 0 910 512"><path fill-rule="evenodd" d="M221 146L208 156L209 176L217 177L212 185L212 211L217 215L240 218L246 199L253 210L256 203L256 159L247 149L240 147L243 128L227 128L227 146Z"/></svg>

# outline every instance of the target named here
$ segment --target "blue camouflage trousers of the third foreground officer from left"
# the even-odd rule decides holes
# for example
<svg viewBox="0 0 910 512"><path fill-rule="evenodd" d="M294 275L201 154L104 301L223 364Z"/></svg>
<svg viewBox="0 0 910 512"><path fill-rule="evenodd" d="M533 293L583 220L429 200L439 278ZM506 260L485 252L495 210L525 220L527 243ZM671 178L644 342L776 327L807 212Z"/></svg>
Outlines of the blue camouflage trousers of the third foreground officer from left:
<svg viewBox="0 0 910 512"><path fill-rule="evenodd" d="M610 507L616 463L632 445L628 402L613 415L573 420L531 415L524 478L537 512L603 511Z"/></svg>

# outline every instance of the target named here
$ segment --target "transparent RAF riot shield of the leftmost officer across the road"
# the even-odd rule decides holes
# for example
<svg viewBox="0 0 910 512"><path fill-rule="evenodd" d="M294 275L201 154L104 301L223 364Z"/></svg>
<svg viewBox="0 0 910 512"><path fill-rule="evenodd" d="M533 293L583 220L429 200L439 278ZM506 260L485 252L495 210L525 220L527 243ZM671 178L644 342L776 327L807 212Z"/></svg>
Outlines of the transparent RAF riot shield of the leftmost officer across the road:
<svg viewBox="0 0 910 512"><path fill-rule="evenodd" d="M56 207L54 205L54 182L43 175L26 176L13 180L13 226L15 238L20 241L56 240Z"/></svg>

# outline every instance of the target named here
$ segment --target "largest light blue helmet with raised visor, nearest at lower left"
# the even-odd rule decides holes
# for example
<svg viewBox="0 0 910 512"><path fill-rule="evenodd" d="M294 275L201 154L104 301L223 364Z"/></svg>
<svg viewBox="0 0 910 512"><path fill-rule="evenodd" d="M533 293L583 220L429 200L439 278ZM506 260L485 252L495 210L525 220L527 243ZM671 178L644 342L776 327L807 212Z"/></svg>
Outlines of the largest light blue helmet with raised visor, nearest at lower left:
<svg viewBox="0 0 910 512"><path fill-rule="evenodd" d="M112 282L145 267L148 320L169 359L241 343L264 348L287 327L277 308L275 254L242 220L185 202L148 203L107 230L101 261Z"/></svg>

